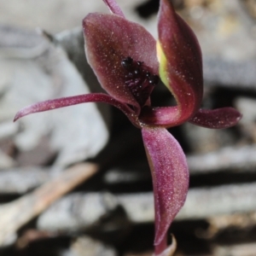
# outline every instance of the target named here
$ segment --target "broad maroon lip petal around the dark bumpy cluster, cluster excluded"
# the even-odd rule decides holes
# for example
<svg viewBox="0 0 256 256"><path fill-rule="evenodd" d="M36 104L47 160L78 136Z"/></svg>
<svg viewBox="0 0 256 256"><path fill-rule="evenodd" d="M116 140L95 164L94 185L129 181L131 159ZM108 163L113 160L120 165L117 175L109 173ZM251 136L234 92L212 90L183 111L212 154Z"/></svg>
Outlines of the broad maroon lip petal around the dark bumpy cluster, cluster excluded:
<svg viewBox="0 0 256 256"><path fill-rule="evenodd" d="M85 50L102 87L119 102L140 106L125 84L121 61L131 56L158 74L155 40L143 26L118 15L90 14L84 19ZM139 112L139 111L138 111Z"/></svg>

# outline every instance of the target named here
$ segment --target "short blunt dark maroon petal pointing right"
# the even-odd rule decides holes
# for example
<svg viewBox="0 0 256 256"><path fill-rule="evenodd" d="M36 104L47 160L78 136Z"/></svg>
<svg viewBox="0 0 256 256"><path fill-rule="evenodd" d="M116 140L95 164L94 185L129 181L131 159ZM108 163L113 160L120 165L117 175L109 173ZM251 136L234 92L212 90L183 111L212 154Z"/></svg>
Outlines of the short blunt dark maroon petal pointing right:
<svg viewBox="0 0 256 256"><path fill-rule="evenodd" d="M200 109L189 123L212 129L229 128L237 124L241 113L235 108Z"/></svg>

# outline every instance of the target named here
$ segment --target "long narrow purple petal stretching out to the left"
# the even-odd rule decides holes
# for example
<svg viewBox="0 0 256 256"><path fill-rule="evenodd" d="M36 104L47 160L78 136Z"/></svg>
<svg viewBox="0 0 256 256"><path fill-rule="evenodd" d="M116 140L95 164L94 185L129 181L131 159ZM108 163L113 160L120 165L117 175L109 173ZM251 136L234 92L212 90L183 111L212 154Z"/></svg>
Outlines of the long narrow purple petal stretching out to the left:
<svg viewBox="0 0 256 256"><path fill-rule="evenodd" d="M102 102L102 103L108 103L110 105L113 105L114 107L119 108L119 110L125 113L128 119L131 120L133 125L136 125L137 127L139 127L137 122L137 116L135 115L133 110L131 110L131 108L129 108L124 103L117 101L112 96L109 96L108 94L103 94L103 93L90 93L90 94L83 94L79 96L63 97L63 98L49 100L45 102L38 102L20 109L20 111L16 113L14 121L30 113L44 112L47 110L53 110L56 108L63 108L63 107L73 106L73 105L87 103L87 102Z"/></svg>

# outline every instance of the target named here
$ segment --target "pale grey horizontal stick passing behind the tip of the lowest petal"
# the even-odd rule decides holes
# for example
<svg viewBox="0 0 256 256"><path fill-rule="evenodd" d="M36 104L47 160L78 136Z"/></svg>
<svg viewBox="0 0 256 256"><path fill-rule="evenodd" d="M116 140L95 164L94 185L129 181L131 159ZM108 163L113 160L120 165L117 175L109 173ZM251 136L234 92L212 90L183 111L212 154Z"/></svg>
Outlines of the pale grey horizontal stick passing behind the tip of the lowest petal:
<svg viewBox="0 0 256 256"><path fill-rule="evenodd" d="M189 189L187 201L176 219L208 219L234 212L254 212L255 196L256 183ZM118 205L123 207L132 223L154 222L152 193L112 197L102 193L90 193L68 195L56 202L38 218L38 227L41 230L64 232L86 230Z"/></svg>

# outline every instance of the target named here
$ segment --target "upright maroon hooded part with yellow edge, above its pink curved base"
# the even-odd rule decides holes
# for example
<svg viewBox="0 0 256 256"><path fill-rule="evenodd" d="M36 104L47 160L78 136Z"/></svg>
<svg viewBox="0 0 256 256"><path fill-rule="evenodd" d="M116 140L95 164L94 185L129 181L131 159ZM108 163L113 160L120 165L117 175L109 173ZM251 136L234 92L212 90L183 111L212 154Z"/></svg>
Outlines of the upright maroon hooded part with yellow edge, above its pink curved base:
<svg viewBox="0 0 256 256"><path fill-rule="evenodd" d="M160 78L175 96L180 117L189 119L200 108L203 93L200 45L170 0L160 1L158 32Z"/></svg>

